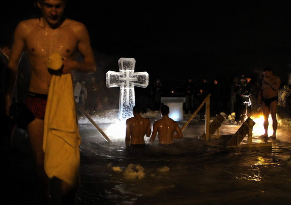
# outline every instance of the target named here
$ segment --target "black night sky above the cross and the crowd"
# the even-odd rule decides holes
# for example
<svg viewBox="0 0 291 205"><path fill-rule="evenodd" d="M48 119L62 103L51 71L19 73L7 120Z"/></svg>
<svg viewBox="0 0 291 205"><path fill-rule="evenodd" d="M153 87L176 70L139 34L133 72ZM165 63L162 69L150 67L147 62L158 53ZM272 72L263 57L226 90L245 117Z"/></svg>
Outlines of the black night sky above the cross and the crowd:
<svg viewBox="0 0 291 205"><path fill-rule="evenodd" d="M32 0L7 0L2 8L1 36L36 11ZM121 57L166 84L229 80L267 66L286 82L290 71L287 0L68 0L65 13L87 27L101 75L118 71Z"/></svg>

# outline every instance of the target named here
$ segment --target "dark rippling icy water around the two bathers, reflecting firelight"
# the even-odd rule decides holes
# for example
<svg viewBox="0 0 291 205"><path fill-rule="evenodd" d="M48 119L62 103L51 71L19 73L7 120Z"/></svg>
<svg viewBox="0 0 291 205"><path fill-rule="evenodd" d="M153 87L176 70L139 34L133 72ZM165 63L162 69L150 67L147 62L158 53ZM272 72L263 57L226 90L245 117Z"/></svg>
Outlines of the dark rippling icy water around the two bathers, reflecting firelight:
<svg viewBox="0 0 291 205"><path fill-rule="evenodd" d="M181 124L180 126L182 126ZM106 132L108 124L100 125ZM225 125L221 134L239 126ZM81 125L81 190L78 205L290 205L291 133L279 128L272 147L226 149L217 140L197 139L202 123L192 123L184 139L169 150L156 145L142 150L125 147L125 133L112 143L91 125ZM246 143L246 138L242 143ZM108 164L121 168L140 164L146 177L126 180ZM168 172L157 168L167 166Z"/></svg>

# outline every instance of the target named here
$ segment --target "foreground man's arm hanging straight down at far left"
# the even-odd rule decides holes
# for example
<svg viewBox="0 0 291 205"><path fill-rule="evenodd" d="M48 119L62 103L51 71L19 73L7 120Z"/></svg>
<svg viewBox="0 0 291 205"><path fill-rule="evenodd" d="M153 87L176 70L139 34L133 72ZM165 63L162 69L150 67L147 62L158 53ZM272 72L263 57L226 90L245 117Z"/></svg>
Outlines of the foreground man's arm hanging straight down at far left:
<svg viewBox="0 0 291 205"><path fill-rule="evenodd" d="M25 49L24 36L26 33L25 23L20 22L16 27L14 33L14 43L11 50L11 55L8 63L8 80L5 91L5 109L6 115L9 116L9 108L11 106L11 99L13 94L13 88L15 86L17 70L18 70L18 62L22 56L22 53Z"/></svg>

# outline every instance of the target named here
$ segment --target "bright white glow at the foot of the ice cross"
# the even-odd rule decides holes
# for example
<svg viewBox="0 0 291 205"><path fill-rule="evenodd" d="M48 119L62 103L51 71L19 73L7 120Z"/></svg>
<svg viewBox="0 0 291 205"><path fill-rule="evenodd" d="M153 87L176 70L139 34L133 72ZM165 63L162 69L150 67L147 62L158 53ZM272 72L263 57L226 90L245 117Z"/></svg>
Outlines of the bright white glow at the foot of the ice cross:
<svg viewBox="0 0 291 205"><path fill-rule="evenodd" d="M121 120L120 122L113 123L107 127L104 131L110 139L125 139L126 134L126 121Z"/></svg>

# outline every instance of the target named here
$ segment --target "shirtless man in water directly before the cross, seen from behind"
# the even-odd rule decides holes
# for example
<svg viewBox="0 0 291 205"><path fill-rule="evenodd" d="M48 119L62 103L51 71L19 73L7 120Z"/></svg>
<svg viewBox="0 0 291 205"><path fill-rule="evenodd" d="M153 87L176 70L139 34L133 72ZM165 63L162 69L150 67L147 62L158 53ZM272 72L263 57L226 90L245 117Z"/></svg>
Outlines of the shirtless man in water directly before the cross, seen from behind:
<svg viewBox="0 0 291 205"><path fill-rule="evenodd" d="M145 135L150 136L150 121L141 116L141 108L137 105L133 107L133 116L126 121L126 146L145 146Z"/></svg>

